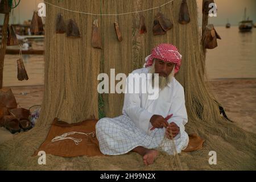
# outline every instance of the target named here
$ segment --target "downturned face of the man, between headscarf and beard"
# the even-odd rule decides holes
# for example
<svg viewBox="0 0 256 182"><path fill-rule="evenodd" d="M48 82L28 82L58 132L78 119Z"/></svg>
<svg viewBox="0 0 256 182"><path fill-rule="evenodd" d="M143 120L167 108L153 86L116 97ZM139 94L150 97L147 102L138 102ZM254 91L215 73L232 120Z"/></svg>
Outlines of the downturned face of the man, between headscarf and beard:
<svg viewBox="0 0 256 182"><path fill-rule="evenodd" d="M161 59L155 59L155 73L158 73L159 76L167 77L174 69L174 63L164 61Z"/></svg>

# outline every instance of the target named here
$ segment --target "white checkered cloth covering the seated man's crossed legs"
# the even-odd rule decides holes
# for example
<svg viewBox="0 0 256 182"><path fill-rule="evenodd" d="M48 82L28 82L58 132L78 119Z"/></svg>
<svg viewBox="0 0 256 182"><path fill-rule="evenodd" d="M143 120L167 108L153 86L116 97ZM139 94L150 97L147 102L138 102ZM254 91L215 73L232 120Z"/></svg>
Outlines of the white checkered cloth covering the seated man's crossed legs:
<svg viewBox="0 0 256 182"><path fill-rule="evenodd" d="M96 125L96 137L100 144L100 150L106 155L126 154L138 146L146 148L158 148L163 140L166 129L152 130L150 135L139 129L127 116L120 115L115 118L102 118ZM184 131L175 137L177 153L188 145L188 134ZM163 143L162 150L168 154L174 154L171 142Z"/></svg>

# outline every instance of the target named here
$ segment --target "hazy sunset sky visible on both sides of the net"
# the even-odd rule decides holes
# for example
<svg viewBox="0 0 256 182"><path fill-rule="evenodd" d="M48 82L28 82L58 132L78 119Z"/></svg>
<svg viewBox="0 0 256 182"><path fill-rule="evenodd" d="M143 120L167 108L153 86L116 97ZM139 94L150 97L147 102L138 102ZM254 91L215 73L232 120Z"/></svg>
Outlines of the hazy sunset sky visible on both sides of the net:
<svg viewBox="0 0 256 182"><path fill-rule="evenodd" d="M198 11L200 24L203 0L196 1L199 7ZM38 4L40 2L43 2L43 0L21 0L19 6L14 9L14 15L11 15L10 17L10 23L23 23L24 20L32 19L32 14L35 10L36 3ZM168 0L166 0L166 2L168 2ZM214 0L214 2L216 3L218 9L217 17L209 17L209 23L214 24L214 26L224 26L228 21L227 19L229 19L229 23L231 23L232 26L237 26L243 18L243 11L245 7L247 8L247 16L249 16L250 19L256 23L256 0ZM4 15L0 14L0 24L3 24L3 17Z"/></svg>

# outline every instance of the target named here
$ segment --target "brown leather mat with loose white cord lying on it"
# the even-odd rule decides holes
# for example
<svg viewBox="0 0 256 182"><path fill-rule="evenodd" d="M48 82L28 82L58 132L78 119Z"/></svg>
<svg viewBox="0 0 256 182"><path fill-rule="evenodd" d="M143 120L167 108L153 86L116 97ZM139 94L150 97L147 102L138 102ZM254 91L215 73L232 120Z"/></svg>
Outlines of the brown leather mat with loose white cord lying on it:
<svg viewBox="0 0 256 182"><path fill-rule="evenodd" d="M51 142L53 138L72 131L82 133L95 132L96 123L96 119L89 119L79 123L69 124L64 121L59 121L57 118L55 118L52 122L52 126L49 130L46 140L41 144L39 149L35 151L34 156L38 155L39 151L45 151L46 154L64 157L103 155L100 151L96 135L94 135L94 137L92 137L92 135L86 136L83 134L68 135L68 137L82 139L79 144L75 144L75 142L71 139Z"/></svg>

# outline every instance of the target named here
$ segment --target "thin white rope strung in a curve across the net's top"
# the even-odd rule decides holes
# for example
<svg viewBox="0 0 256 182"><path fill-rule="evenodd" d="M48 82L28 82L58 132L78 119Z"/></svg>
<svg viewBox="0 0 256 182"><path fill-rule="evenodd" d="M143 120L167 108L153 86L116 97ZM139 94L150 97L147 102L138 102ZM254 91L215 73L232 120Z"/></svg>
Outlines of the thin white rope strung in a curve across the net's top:
<svg viewBox="0 0 256 182"><path fill-rule="evenodd" d="M49 3L49 2L46 2L46 1L44 1L44 3L47 3L48 5L51 5L51 6L54 6L54 7L58 7L59 9L71 11L71 12L74 12L74 13L81 13L81 14L95 15L95 16L118 16L118 15L127 15L127 14L133 14L133 13L141 13L141 12L144 12L144 11L150 11L150 10L158 9L158 8L160 8L162 6L167 5L168 3L171 3L172 1L174 1L174 0L171 0L171 1L167 2L167 3L164 3L163 5L160 5L160 6L157 6L157 7L152 7L150 9L146 9L146 10L133 11L133 12L129 12L129 13L120 13L120 14L94 14L94 13L86 13L86 12L82 12L82 11L73 11L73 10L65 9L64 7L56 6L56 5L53 5L52 3Z"/></svg>

